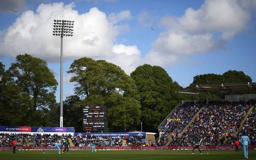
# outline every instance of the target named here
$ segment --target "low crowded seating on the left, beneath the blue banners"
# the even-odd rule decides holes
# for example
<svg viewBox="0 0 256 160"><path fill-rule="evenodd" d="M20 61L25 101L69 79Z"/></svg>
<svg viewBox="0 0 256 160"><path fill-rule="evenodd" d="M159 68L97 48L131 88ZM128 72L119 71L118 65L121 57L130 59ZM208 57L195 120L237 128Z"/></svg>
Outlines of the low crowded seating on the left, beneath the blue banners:
<svg viewBox="0 0 256 160"><path fill-rule="evenodd" d="M109 137L102 136L96 137L92 134L86 136L62 135L57 134L0 134L0 146L12 146L12 140L16 138L17 146L49 146L54 145L58 139L69 139L70 146L91 146L95 142L96 146L124 146L123 140L126 141L126 146L142 146L145 144L145 136L121 136Z"/></svg>

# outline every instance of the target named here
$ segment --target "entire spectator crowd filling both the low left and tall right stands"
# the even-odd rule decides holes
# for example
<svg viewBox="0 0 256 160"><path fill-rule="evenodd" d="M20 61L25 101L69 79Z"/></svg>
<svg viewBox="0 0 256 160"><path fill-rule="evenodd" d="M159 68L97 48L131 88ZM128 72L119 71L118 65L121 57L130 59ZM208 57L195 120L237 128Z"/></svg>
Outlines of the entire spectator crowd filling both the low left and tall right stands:
<svg viewBox="0 0 256 160"><path fill-rule="evenodd" d="M182 104L176 108L172 115L166 119L159 130L162 132L160 139L156 142L146 142L143 135L137 136L95 136L79 134L8 134L0 133L0 146L12 146L12 141L16 138L17 146L50 146L58 140L70 138L74 146L193 146L196 141L201 141L200 145L234 145L239 140L243 132L250 137L252 145L256 145L256 107L254 107L246 118L241 130L239 130L244 117L252 107L253 102L247 103L219 103L213 102L208 105L203 104ZM188 123L193 122L186 128ZM184 130L186 128L186 130ZM181 134L184 130L183 134Z"/></svg>

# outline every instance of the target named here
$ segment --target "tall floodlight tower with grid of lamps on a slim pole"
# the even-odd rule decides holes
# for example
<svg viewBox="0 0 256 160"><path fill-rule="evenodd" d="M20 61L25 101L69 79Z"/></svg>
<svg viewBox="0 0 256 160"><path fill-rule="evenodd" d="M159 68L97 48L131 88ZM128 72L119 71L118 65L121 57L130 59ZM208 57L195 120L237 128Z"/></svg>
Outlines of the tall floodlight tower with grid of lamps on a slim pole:
<svg viewBox="0 0 256 160"><path fill-rule="evenodd" d="M60 36L60 127L63 127L63 36L73 36L74 21L54 20L53 35Z"/></svg>

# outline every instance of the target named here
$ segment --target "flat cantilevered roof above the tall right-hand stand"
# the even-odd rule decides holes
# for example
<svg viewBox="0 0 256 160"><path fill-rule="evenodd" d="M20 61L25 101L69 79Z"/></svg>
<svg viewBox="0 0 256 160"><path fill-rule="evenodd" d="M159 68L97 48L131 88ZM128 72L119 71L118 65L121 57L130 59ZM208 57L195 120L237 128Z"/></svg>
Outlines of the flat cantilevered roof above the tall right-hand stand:
<svg viewBox="0 0 256 160"><path fill-rule="evenodd" d="M194 88L189 88L178 93L216 93L230 92L235 90L251 90L256 89L256 82L233 83L233 84L211 84L211 85L196 85Z"/></svg>

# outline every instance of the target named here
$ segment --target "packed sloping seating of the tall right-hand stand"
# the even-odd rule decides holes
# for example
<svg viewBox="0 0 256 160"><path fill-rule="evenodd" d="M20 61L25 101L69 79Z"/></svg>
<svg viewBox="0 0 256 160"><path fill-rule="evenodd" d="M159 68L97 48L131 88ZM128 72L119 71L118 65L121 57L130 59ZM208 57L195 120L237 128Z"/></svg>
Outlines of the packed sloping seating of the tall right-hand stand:
<svg viewBox="0 0 256 160"><path fill-rule="evenodd" d="M191 124L188 124L199 108L202 111L194 117ZM239 131L240 125L243 125L242 121L246 119L241 132L248 131L252 144L256 144L255 108L252 111L250 108L252 108L250 102L248 104L215 102L203 108L198 104L194 104L194 107L192 104L183 104L170 117L178 117L180 120L168 122L165 126L168 130L163 127L166 132L155 143L158 146L192 146L196 140L202 139L201 145L234 145L234 140L238 138L235 138L235 132ZM186 124L188 124L187 128L185 128ZM181 128L184 130L181 131ZM176 134L172 131L176 131ZM171 139L168 138L170 133L173 134Z"/></svg>

